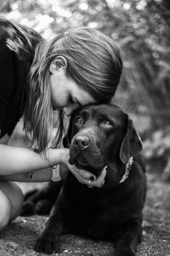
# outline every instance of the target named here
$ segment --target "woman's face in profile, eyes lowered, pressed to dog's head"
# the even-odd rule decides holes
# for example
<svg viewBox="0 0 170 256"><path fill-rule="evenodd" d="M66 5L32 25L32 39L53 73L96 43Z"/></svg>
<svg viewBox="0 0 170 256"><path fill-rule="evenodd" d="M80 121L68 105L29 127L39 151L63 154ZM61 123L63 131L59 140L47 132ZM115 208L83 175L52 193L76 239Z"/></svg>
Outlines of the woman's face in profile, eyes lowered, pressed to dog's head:
<svg viewBox="0 0 170 256"><path fill-rule="evenodd" d="M71 116L73 110L90 103L97 103L92 96L65 76L63 69L54 70L50 76L51 102L55 109L63 110Z"/></svg>

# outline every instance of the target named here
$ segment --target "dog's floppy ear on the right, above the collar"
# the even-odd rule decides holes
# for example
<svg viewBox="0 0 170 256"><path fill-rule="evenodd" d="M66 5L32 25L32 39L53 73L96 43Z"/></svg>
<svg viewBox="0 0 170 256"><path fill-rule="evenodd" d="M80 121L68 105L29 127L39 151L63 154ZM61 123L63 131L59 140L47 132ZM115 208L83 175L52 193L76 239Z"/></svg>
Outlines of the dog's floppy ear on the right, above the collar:
<svg viewBox="0 0 170 256"><path fill-rule="evenodd" d="M133 127L132 120L128 117L128 124L124 131L124 137L120 148L120 159L125 164L131 156L142 150L142 141Z"/></svg>

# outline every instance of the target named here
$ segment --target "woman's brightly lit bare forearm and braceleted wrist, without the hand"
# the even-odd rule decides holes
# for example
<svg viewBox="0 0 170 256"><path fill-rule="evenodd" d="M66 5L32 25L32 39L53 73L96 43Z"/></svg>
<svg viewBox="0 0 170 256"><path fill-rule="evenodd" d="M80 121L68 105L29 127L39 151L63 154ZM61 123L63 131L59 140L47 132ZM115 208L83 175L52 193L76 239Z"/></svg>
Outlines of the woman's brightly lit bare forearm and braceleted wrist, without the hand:
<svg viewBox="0 0 170 256"><path fill-rule="evenodd" d="M65 148L49 149L48 160L50 165L63 164L62 155L67 156L66 151L69 154L69 151ZM48 167L43 153L38 154L28 148L0 144L0 175L20 174Z"/></svg>

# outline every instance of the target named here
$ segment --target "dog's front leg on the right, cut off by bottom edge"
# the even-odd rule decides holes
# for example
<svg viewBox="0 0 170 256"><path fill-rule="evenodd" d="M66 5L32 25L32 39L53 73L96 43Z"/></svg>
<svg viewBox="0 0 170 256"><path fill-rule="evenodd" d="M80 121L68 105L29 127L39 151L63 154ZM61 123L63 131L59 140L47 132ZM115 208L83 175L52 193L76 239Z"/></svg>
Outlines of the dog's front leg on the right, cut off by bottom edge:
<svg viewBox="0 0 170 256"><path fill-rule="evenodd" d="M114 256L135 256L137 244L141 242L141 220L124 223L121 236L117 234Z"/></svg>

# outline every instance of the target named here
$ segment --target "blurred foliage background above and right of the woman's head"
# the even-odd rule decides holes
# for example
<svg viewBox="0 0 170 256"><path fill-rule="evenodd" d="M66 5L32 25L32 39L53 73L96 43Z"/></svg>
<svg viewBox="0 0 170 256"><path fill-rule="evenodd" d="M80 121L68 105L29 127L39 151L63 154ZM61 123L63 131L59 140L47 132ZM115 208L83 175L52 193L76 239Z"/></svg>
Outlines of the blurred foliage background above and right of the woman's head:
<svg viewBox="0 0 170 256"><path fill-rule="evenodd" d="M150 158L154 147L162 147L161 141L169 136L165 128L170 124L169 0L1 0L0 12L46 38L77 26L97 28L111 36L124 56L114 102L134 119L138 115L142 139L154 144L146 147ZM166 132L157 144L159 130Z"/></svg>

